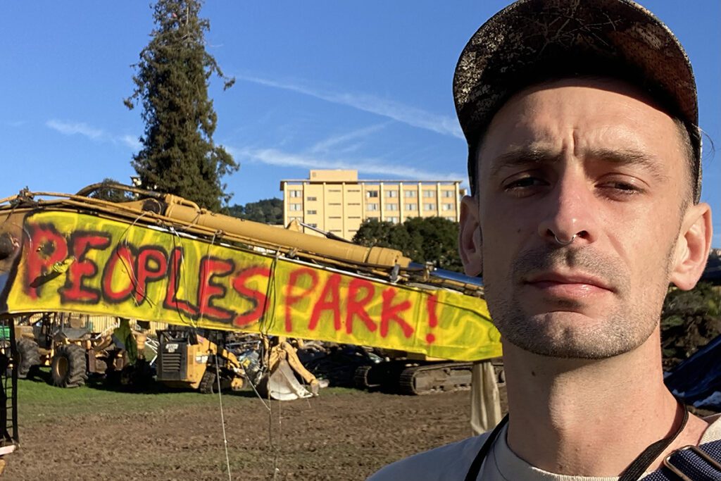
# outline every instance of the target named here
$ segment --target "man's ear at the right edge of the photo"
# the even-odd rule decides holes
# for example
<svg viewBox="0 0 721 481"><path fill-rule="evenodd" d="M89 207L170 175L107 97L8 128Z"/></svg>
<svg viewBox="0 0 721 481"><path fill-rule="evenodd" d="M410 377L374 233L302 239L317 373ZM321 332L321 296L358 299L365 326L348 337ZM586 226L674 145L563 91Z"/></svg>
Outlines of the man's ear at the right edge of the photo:
<svg viewBox="0 0 721 481"><path fill-rule="evenodd" d="M676 242L671 282L684 291L696 286L709 259L713 229L711 207L707 203L691 206L684 216Z"/></svg>

